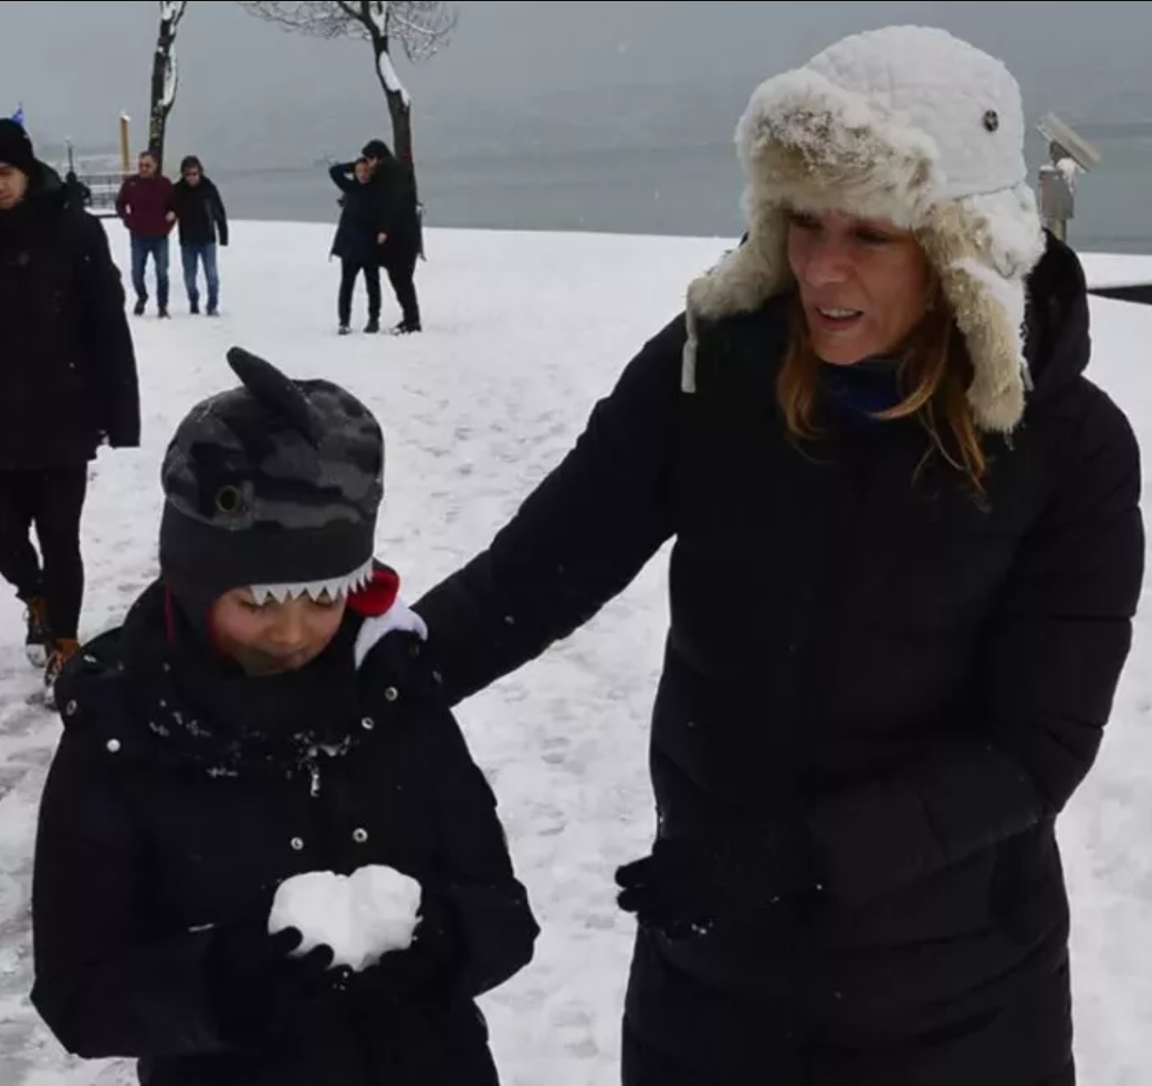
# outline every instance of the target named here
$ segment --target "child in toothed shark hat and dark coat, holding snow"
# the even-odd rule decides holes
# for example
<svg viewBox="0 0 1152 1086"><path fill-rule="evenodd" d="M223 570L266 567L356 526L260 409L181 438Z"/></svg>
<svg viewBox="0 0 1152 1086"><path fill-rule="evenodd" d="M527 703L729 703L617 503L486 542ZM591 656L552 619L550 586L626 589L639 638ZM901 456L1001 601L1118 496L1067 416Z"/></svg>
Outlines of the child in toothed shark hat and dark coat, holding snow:
<svg viewBox="0 0 1152 1086"><path fill-rule="evenodd" d="M419 620L372 560L376 420L244 352L168 450L161 578L61 676L32 1002L149 1086L493 1086L475 997L539 929ZM270 934L276 887L392 868L410 949Z"/></svg>

